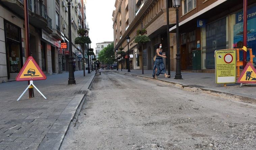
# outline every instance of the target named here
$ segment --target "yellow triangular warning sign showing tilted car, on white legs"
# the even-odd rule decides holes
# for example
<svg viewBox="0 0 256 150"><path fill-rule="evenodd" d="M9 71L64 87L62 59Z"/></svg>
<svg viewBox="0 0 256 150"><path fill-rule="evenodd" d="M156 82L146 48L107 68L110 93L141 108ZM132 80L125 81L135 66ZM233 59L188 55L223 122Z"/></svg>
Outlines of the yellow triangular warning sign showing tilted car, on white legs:
<svg viewBox="0 0 256 150"><path fill-rule="evenodd" d="M29 56L21 71L16 77L16 81L46 80L44 72L36 63L32 56Z"/></svg>

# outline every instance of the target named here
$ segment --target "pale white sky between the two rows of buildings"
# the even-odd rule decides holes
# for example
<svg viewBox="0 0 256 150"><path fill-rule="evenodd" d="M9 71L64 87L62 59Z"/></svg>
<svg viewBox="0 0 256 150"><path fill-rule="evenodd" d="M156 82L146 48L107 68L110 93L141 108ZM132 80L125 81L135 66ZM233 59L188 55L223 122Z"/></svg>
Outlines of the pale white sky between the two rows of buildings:
<svg viewBox="0 0 256 150"><path fill-rule="evenodd" d="M86 20L89 24L91 48L96 43L114 40L112 13L115 0L86 0Z"/></svg>

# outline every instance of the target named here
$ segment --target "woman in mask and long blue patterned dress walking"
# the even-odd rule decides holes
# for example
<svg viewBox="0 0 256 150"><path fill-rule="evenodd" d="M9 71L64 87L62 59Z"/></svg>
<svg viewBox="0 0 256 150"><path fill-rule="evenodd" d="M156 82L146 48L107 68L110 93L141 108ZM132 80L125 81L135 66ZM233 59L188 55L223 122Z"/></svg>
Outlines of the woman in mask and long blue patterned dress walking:
<svg viewBox="0 0 256 150"><path fill-rule="evenodd" d="M157 76L159 76L160 74L165 74L165 78L168 78L170 76L168 76L165 73L165 66L164 66L164 61L163 58L166 58L165 54L162 55L162 44L159 44L159 47L157 49L157 58L155 58L155 62L154 62L154 68L153 68L153 78L157 79Z"/></svg>

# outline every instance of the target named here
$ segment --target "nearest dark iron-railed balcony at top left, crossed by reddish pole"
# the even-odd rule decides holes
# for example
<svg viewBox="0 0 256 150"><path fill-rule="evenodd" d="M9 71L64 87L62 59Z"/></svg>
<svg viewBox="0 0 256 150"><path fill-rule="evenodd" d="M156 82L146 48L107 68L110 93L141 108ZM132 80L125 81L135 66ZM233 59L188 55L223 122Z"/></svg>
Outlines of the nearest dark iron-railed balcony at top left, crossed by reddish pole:
<svg viewBox="0 0 256 150"><path fill-rule="evenodd" d="M11 11L24 18L24 0L1 0ZM29 24L52 33L52 20L47 16L47 8L39 0L28 0Z"/></svg>

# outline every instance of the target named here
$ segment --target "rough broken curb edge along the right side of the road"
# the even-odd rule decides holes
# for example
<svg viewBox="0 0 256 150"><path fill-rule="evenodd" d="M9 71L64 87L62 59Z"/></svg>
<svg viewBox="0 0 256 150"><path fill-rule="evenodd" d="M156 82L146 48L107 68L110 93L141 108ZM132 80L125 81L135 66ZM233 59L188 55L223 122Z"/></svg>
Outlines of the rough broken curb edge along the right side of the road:
<svg viewBox="0 0 256 150"><path fill-rule="evenodd" d="M125 75L128 74L131 76L140 77L140 78L151 80L151 81L157 81L157 82L162 82L165 84L170 84L170 85L174 86L175 88L179 88L179 89L190 91L190 92L204 93L204 94L209 94L209 95L213 95L213 96L218 96L221 98L231 98L233 100L242 101L242 102L246 102L246 103L256 103L256 98L240 96L240 95L230 94L230 93L226 93L226 92L220 92L220 91L211 90L211 89L207 89L207 88L198 88L198 87L193 87L193 86L189 86L189 85L183 85L183 84L180 84L177 82L165 81L165 80L161 80L161 79L153 79L153 78L142 76L139 74L121 72L121 71L116 71L116 70L110 70L110 71L122 73Z"/></svg>

